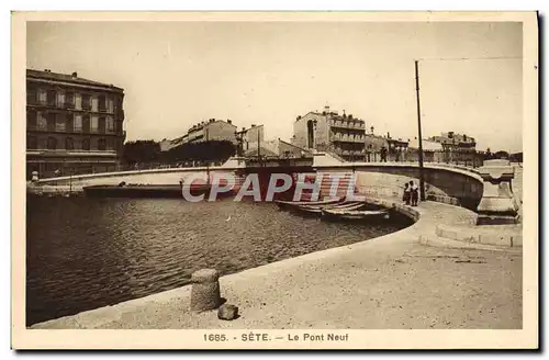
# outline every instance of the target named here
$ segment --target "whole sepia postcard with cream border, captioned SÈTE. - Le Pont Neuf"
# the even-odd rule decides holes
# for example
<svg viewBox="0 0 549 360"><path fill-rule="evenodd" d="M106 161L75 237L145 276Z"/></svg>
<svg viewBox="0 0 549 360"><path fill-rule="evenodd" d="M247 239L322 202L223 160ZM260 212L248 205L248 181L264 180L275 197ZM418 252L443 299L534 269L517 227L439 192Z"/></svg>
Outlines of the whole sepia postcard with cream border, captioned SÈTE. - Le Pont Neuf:
<svg viewBox="0 0 549 360"><path fill-rule="evenodd" d="M536 349L538 66L536 12L13 12L12 348Z"/></svg>

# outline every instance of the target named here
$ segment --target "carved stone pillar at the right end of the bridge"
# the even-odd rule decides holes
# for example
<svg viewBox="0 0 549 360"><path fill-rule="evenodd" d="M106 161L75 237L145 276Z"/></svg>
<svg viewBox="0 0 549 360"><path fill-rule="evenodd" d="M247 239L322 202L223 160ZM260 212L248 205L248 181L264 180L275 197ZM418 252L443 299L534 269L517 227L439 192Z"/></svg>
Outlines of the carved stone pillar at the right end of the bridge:
<svg viewBox="0 0 549 360"><path fill-rule="evenodd" d="M486 160L479 169L484 181L482 199L477 207L477 225L516 224L518 205L511 180L515 170L508 160Z"/></svg>

